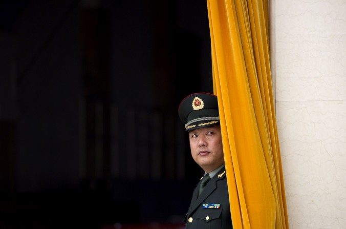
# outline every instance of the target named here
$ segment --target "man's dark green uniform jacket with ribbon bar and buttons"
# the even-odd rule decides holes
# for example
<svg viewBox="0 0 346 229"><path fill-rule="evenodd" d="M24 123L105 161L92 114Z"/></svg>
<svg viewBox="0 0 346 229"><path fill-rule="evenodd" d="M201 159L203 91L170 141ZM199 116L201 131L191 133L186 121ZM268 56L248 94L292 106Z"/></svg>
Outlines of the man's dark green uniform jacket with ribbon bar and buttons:
<svg viewBox="0 0 346 229"><path fill-rule="evenodd" d="M225 167L207 183L198 197L198 182L185 217L186 229L232 229ZM203 204L220 204L220 208L203 208Z"/></svg>

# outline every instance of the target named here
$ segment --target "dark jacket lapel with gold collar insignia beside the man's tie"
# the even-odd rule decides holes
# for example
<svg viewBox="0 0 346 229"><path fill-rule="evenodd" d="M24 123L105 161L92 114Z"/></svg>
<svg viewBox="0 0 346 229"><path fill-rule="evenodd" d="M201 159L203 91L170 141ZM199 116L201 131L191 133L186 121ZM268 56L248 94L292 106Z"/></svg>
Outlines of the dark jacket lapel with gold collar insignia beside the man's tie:
<svg viewBox="0 0 346 229"><path fill-rule="evenodd" d="M225 171L225 167L222 168L217 175L215 175L205 186L203 192L199 197L198 196L198 187L201 183L201 181L197 185L197 189L194 190L193 195L192 195L192 201L191 201L191 207L189 212L193 212L194 210L197 209L201 205L201 203L217 188L216 183L218 180L223 179L225 177L224 174L222 174ZM218 177L219 174L222 174L221 177Z"/></svg>

